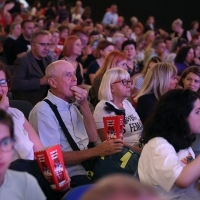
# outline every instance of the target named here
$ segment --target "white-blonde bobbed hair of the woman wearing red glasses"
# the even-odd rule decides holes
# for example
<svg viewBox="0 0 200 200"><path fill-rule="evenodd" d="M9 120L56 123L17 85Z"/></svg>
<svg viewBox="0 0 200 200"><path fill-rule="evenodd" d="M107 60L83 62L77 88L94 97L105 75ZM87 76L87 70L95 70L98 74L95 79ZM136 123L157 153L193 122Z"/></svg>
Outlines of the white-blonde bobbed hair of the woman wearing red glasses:
<svg viewBox="0 0 200 200"><path fill-rule="evenodd" d="M113 100L110 85L118 79L129 80L130 75L125 69L122 69L122 68L109 69L104 74L101 84L100 84L100 87L99 87L99 93L98 93L99 100L108 100L108 101Z"/></svg>

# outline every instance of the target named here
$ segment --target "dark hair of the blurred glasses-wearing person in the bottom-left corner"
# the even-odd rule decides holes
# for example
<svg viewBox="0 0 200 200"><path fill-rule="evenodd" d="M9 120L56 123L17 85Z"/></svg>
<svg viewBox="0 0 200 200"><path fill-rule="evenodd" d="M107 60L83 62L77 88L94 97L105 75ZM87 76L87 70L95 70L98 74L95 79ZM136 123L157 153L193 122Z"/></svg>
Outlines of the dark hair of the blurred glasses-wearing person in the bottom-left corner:
<svg viewBox="0 0 200 200"><path fill-rule="evenodd" d="M0 109L0 124L3 124L9 128L10 137L14 139L14 123L12 117L2 109Z"/></svg>

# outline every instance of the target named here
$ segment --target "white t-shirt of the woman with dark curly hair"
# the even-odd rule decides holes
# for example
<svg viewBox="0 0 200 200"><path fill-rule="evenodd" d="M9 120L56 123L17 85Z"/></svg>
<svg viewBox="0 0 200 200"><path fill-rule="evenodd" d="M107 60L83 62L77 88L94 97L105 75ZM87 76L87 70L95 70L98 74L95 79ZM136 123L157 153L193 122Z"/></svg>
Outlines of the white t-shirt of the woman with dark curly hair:
<svg viewBox="0 0 200 200"><path fill-rule="evenodd" d="M164 138L153 138L144 146L139 159L140 181L155 187L163 199L200 199L200 193L194 189L194 184L186 189L174 185L185 165L194 158L191 147L176 153L174 147Z"/></svg>

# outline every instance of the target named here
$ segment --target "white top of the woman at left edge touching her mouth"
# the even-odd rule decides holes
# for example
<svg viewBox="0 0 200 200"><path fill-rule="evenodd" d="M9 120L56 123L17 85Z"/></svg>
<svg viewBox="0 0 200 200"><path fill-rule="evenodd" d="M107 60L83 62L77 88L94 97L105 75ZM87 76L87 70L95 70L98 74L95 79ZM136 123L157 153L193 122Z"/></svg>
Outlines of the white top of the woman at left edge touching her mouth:
<svg viewBox="0 0 200 200"><path fill-rule="evenodd" d="M33 143L29 139L28 132L24 129L24 114L20 110L11 107L8 108L7 113L12 116L14 122L15 154L13 160L17 158L33 160Z"/></svg>

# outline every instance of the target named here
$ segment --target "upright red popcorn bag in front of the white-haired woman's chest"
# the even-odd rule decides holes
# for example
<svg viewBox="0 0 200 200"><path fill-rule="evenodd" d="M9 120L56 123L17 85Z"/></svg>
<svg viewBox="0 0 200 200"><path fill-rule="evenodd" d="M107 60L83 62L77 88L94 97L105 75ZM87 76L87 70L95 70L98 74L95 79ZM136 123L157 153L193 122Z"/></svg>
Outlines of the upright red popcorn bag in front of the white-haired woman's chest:
<svg viewBox="0 0 200 200"><path fill-rule="evenodd" d="M123 115L103 117L103 123L107 140L110 139L123 140L123 127L124 127Z"/></svg>

